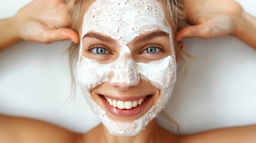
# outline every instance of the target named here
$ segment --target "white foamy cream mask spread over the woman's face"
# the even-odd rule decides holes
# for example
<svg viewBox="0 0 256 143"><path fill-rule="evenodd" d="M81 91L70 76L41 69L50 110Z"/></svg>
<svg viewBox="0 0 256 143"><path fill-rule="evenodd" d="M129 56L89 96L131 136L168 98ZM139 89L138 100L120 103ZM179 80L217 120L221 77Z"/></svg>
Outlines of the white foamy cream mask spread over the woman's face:
<svg viewBox="0 0 256 143"><path fill-rule="evenodd" d="M171 96L176 79L176 61L171 29L165 25L164 20L164 12L156 0L98 0L84 16L77 69L78 81L88 104L113 135L137 135L160 113ZM128 43L137 36L153 30L169 33L172 55L150 63L136 63L131 58ZM82 38L90 32L101 33L115 39L121 46L119 58L109 64L100 64L96 60L82 56ZM110 73L113 73L111 78ZM140 80L152 83L161 90L162 96L143 117L133 122L110 120L105 111L90 98L91 89L103 82L125 82L127 85L136 86Z"/></svg>

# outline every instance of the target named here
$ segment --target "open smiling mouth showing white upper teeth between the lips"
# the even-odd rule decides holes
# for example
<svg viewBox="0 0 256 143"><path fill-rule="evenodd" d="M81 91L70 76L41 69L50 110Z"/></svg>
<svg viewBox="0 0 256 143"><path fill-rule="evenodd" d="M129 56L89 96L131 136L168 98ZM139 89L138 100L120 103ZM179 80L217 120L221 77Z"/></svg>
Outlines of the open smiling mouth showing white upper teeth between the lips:
<svg viewBox="0 0 256 143"><path fill-rule="evenodd" d="M140 98L138 100L121 101L121 100L115 100L115 99L106 97L104 95L100 95L100 97L104 98L104 100L106 100L110 106L121 109L121 110L129 110L129 109L135 108L138 105L143 104L144 101L148 100L152 96L153 95L147 95L146 97Z"/></svg>

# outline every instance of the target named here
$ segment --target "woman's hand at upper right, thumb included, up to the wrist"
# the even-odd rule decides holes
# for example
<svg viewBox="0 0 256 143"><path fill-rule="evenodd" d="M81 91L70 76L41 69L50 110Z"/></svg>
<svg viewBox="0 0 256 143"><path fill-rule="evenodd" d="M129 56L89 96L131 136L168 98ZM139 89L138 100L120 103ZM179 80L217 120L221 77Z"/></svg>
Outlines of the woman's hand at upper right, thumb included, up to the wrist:
<svg viewBox="0 0 256 143"><path fill-rule="evenodd" d="M243 9L233 0L185 0L187 26L177 33L183 38L214 38L233 35L242 21Z"/></svg>

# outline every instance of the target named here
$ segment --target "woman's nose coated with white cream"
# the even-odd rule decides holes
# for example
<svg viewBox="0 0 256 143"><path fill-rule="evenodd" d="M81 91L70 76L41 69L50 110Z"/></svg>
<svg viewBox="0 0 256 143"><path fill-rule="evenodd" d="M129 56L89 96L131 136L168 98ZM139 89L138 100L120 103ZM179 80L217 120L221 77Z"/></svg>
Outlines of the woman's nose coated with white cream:
<svg viewBox="0 0 256 143"><path fill-rule="evenodd" d="M135 62L132 58L127 60L118 60L113 69L113 77L110 84L122 89L128 89L130 86L137 86L140 83L140 75L135 68Z"/></svg>

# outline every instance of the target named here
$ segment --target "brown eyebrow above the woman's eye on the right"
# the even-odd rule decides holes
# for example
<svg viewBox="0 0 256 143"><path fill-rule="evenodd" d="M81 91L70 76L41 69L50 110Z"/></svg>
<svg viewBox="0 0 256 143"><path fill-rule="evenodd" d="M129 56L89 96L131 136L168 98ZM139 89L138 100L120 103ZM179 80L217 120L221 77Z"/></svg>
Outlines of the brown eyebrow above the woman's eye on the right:
<svg viewBox="0 0 256 143"><path fill-rule="evenodd" d="M134 43L149 41L150 39L154 39L154 38L157 38L160 36L168 36L169 37L169 33L159 30L156 32L149 33L147 35L142 35L142 36L137 37L137 39L135 39Z"/></svg>

